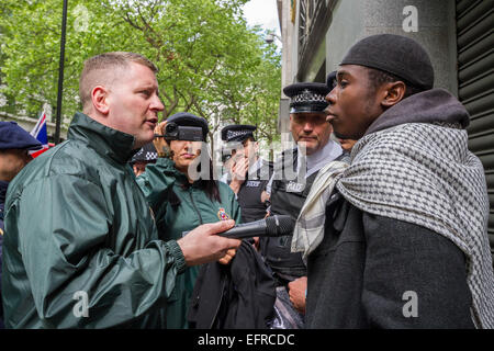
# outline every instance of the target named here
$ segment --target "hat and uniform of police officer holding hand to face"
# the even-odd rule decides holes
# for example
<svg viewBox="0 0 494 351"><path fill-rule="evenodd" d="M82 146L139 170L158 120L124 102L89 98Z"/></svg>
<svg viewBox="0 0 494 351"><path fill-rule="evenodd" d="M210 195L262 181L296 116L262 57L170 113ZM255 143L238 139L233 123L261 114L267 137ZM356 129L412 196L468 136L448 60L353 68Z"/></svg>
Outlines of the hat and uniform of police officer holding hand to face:
<svg viewBox="0 0 494 351"><path fill-rule="evenodd" d="M228 125L222 129L222 139L232 146L233 143L243 143L254 137L254 125ZM246 179L242 184L237 201L242 208L242 222L248 223L262 219L266 216L266 204L261 202L262 191L271 178L273 166L261 158L249 167ZM227 181L229 184L231 181Z"/></svg>

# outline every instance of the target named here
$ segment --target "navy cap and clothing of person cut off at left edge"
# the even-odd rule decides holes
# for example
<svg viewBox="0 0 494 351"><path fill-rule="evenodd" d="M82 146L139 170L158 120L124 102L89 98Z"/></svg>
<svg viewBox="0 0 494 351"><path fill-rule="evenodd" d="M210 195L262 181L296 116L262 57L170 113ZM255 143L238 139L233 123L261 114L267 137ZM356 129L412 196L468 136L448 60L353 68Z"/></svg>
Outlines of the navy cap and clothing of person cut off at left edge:
<svg viewBox="0 0 494 351"><path fill-rule="evenodd" d="M21 128L15 122L0 122L0 149L40 150L43 145ZM0 180L0 329L3 328L3 312L1 304L1 272L3 244L3 211L9 182Z"/></svg>

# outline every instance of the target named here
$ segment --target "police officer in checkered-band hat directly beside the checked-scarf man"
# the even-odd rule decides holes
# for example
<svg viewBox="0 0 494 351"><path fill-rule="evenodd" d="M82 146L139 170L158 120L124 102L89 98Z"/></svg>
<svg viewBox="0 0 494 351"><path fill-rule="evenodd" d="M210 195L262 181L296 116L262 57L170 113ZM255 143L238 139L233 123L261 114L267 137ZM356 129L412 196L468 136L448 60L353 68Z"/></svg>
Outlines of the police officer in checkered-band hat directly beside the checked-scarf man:
<svg viewBox="0 0 494 351"><path fill-rule="evenodd" d="M290 131L294 149L282 152L270 181L270 214L297 219L321 169L343 157L340 146L330 140L326 122L325 83L301 82L283 89L290 98ZM278 281L278 304L288 302L289 316L280 328L302 328L305 309L306 267L300 252L290 252L291 236L261 238L261 253ZM296 312L293 309L296 308ZM282 310L281 308L279 310ZM290 324L288 320L295 320Z"/></svg>

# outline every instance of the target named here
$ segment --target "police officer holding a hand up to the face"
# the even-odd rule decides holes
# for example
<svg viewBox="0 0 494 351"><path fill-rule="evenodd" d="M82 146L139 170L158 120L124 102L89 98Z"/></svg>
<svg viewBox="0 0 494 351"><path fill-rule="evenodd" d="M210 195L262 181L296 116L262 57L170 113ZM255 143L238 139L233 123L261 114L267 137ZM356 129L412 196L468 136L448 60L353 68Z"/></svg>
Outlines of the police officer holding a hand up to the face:
<svg viewBox="0 0 494 351"><path fill-rule="evenodd" d="M259 144L254 137L256 126L228 125L222 129L222 139L231 149L229 188L237 195L242 208L242 222L266 217L266 202L261 194L272 174L273 166L258 156Z"/></svg>

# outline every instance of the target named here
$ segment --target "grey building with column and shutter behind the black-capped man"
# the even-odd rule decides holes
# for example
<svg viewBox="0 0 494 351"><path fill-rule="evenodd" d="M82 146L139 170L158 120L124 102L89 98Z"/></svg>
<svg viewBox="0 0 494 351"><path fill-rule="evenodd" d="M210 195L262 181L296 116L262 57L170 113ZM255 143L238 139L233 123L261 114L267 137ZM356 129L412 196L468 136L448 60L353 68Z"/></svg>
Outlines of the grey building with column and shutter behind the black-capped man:
<svg viewBox="0 0 494 351"><path fill-rule="evenodd" d="M458 97L471 115L469 147L485 169L487 231L494 248L494 0L277 0L277 4L282 87L325 82L345 53L369 35L405 35L427 49L435 87ZM288 104L281 92L280 132L289 131Z"/></svg>

